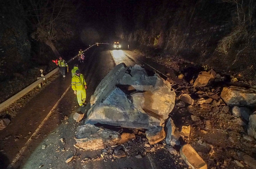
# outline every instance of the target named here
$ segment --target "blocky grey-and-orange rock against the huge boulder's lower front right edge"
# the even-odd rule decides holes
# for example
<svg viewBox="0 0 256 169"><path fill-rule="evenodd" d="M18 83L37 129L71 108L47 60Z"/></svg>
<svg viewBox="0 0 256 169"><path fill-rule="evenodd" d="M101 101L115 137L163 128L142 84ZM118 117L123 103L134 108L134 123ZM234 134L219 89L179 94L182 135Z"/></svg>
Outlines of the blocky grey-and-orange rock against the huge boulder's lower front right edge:
<svg viewBox="0 0 256 169"><path fill-rule="evenodd" d="M147 130L146 137L148 139L148 142L153 145L158 143L159 141L164 140L165 138L165 132L163 127L154 127L150 130Z"/></svg>

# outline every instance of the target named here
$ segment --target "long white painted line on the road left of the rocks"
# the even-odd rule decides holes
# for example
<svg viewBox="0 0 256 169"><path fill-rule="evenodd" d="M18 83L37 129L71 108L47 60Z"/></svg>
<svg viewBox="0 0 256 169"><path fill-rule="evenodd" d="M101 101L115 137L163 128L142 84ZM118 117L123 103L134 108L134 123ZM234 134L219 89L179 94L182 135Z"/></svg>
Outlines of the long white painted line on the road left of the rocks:
<svg viewBox="0 0 256 169"><path fill-rule="evenodd" d="M12 168L13 164L15 164L19 158L22 156L23 152L27 149L28 144L31 142L32 138L37 135L38 131L42 128L42 126L44 125L44 123L46 122L46 120L49 119L49 117L51 116L51 114L55 111L56 107L59 105L59 102L61 101L61 99L64 97L64 95L66 95L66 93L68 92L68 90L70 89L71 85L68 86L68 88L66 89L66 91L63 93L63 95L60 97L60 99L56 102L56 104L53 106L53 108L51 109L51 111L48 113L48 115L44 118L44 120L41 122L41 124L37 127L37 129L35 130L35 132L32 134L32 136L28 139L28 141L25 143L24 147L22 147L19 151L19 153L16 155L16 157L13 159L13 161L11 162L11 164L9 164L8 168Z"/></svg>

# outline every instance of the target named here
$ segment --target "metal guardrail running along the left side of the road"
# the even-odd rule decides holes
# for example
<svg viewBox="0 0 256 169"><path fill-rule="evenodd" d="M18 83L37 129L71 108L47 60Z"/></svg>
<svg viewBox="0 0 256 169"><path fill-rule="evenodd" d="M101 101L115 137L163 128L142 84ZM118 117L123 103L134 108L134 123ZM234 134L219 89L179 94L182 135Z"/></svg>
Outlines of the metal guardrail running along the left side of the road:
<svg viewBox="0 0 256 169"><path fill-rule="evenodd" d="M97 45L99 43L95 43L94 45ZM100 43L103 44L103 43ZM93 47L94 45L88 47L87 49L83 50L84 52L89 50L91 47ZM75 55L73 58L71 58L68 63L70 63L71 61L73 61L75 58L77 58L78 55ZM27 94L28 92L30 92L32 89L34 89L35 87L37 87L40 83L42 83L43 81L45 81L46 79L48 79L49 77L51 77L53 74L55 74L56 72L59 71L59 67L57 67L56 69L52 70L51 72L49 72L48 74L46 74L45 76L43 76L42 78L38 79L37 81L35 81L34 83L32 83L31 85L29 85L28 87L24 88L23 90L21 90L20 92L18 92L16 95L13 95L11 98L7 99L6 101L4 101L3 103L0 104L0 112L3 111L6 107L10 106L12 103L16 102L18 99L20 99L21 97L23 97L25 94Z"/></svg>

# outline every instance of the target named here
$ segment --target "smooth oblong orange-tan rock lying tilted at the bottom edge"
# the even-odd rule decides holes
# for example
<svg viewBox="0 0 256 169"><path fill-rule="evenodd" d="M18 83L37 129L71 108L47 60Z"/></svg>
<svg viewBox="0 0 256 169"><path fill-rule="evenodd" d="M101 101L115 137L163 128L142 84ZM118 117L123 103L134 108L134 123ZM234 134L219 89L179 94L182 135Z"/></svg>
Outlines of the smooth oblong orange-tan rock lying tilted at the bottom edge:
<svg viewBox="0 0 256 169"><path fill-rule="evenodd" d="M197 154L191 145L183 145L181 147L180 154L185 163L191 168L207 169L205 161Z"/></svg>

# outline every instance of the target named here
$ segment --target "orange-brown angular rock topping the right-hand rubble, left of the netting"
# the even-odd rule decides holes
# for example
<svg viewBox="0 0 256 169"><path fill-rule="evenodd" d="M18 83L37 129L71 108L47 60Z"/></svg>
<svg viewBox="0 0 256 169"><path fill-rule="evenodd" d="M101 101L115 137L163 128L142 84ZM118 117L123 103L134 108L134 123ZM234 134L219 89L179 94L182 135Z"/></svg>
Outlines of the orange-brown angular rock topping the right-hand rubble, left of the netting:
<svg viewBox="0 0 256 169"><path fill-rule="evenodd" d="M208 72L200 72L197 79L195 80L194 87L205 87L211 79L214 79L216 72L209 70Z"/></svg>

